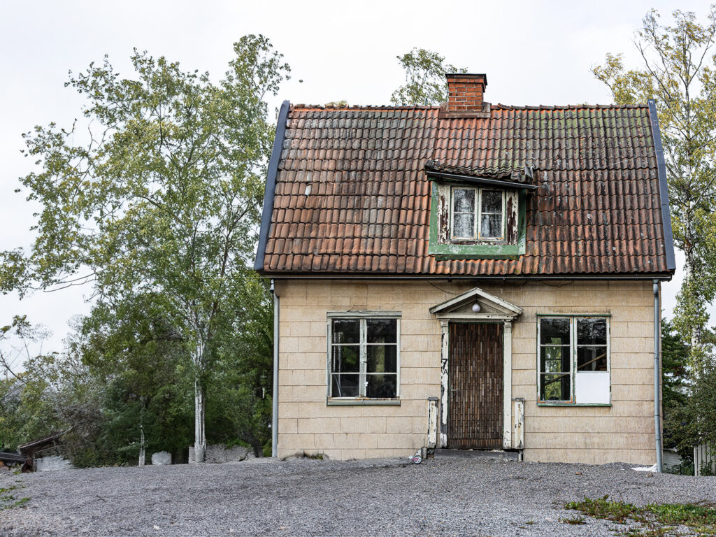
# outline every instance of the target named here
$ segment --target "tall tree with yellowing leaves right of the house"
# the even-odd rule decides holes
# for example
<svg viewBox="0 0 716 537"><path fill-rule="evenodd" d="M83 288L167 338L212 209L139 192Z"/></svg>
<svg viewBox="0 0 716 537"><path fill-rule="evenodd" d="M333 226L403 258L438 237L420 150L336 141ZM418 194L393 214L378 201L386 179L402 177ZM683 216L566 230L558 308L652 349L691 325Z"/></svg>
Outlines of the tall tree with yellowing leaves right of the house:
<svg viewBox="0 0 716 537"><path fill-rule="evenodd" d="M621 54L606 54L594 76L621 105L656 100L667 165L674 244L684 252L685 275L674 326L690 341L699 369L707 304L716 294L716 6L706 24L690 11L673 12L674 25L649 11L634 41L640 69L624 67Z"/></svg>

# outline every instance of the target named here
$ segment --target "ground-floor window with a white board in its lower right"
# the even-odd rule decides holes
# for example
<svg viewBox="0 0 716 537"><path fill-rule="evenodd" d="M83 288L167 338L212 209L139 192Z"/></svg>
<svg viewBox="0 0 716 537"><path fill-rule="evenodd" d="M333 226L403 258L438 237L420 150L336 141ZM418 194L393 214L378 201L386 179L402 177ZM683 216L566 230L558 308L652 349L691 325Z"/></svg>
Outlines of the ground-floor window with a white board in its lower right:
<svg viewBox="0 0 716 537"><path fill-rule="evenodd" d="M538 402L608 405L609 317L538 316Z"/></svg>

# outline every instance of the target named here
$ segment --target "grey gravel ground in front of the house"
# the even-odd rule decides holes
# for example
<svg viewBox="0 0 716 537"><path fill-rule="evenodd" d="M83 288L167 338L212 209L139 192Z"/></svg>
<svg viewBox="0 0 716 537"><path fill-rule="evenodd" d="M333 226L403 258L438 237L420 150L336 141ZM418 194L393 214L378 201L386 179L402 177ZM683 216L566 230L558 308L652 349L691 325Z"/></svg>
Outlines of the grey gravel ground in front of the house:
<svg viewBox="0 0 716 537"><path fill-rule="evenodd" d="M23 508L9 536L614 536L561 523L585 495L642 505L716 501L716 478L513 461L253 460L0 476Z"/></svg>

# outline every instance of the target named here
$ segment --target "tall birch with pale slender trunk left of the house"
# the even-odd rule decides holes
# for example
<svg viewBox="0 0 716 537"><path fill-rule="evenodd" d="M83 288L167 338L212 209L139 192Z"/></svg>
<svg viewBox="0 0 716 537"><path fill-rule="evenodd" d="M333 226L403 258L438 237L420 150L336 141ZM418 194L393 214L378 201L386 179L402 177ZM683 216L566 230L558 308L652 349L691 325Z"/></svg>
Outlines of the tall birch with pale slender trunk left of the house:
<svg viewBox="0 0 716 537"><path fill-rule="evenodd" d="M37 239L28 254L0 259L4 291L91 282L110 306L163 296L193 362L197 460L216 325L258 232L274 134L263 98L289 73L265 37L242 37L234 52L216 84L136 51L134 78L120 77L106 57L71 74L66 85L87 98L87 143L74 143L77 122L24 135L39 166L21 178L27 199L42 205Z"/></svg>

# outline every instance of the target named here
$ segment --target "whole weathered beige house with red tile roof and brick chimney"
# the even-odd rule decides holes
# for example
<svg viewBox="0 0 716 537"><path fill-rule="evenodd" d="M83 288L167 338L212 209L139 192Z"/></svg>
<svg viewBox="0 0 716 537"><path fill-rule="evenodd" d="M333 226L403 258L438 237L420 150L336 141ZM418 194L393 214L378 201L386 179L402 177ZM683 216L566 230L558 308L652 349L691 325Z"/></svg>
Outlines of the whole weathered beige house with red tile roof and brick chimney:
<svg viewBox="0 0 716 537"><path fill-rule="evenodd" d="M654 102L490 105L485 74L447 77L439 107L281 107L255 267L274 455L653 464L675 266Z"/></svg>

